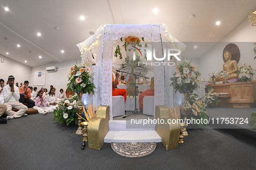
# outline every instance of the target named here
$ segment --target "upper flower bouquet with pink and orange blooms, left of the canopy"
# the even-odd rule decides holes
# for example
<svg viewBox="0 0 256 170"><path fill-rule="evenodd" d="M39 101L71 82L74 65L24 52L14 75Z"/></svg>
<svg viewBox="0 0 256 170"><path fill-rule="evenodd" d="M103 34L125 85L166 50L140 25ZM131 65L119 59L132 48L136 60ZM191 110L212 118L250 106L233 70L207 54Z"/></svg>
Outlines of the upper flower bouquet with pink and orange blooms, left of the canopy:
<svg viewBox="0 0 256 170"><path fill-rule="evenodd" d="M83 63L75 65L71 68L68 74L67 84L68 91L73 91L73 94L78 91L83 91L84 94L94 94L95 85L93 83L93 74L91 74L91 68L89 64Z"/></svg>

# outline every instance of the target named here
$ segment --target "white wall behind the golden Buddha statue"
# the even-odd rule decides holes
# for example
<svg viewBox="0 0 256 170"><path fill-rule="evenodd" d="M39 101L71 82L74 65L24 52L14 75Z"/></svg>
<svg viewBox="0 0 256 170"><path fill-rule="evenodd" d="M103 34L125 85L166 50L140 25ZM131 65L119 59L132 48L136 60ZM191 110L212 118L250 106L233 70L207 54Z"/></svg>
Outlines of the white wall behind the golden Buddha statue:
<svg viewBox="0 0 256 170"><path fill-rule="evenodd" d="M224 47L229 43L234 43L240 50L240 62L238 66L246 63L256 69L256 60L254 60L254 40L256 40L256 27L252 27L246 18L240 25L230 32L221 42L216 44L211 50L199 58L199 68L202 73L202 79L209 79L208 73L222 70L224 64L222 53ZM256 73L254 71L254 73ZM253 77L256 79L256 76Z"/></svg>

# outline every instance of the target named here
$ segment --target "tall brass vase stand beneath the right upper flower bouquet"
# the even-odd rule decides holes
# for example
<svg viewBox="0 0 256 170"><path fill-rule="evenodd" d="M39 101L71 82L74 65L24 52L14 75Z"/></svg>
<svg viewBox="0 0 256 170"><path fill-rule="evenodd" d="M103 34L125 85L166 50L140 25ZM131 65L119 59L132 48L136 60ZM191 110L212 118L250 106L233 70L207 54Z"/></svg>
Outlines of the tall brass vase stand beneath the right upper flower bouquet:
<svg viewBox="0 0 256 170"><path fill-rule="evenodd" d="M185 120L186 120L186 117L188 116L188 113L192 110L192 106L191 106L191 104L188 102L188 99L189 99L189 95L190 95L190 91L188 90L188 91L185 91L185 93L183 93L184 94L184 98L185 98L185 101L184 101L184 103L181 105L181 110L182 110L182 113L183 113L183 115L184 115L184 118L183 118L183 120L184 120L184 122L183 122L183 126L181 126L181 128L182 128L182 136L187 136L187 135L189 135L189 133L188 133L188 131L187 131L187 129L186 129L186 126L187 126L187 124L186 124L186 122L185 122ZM183 142L182 142L183 143Z"/></svg>

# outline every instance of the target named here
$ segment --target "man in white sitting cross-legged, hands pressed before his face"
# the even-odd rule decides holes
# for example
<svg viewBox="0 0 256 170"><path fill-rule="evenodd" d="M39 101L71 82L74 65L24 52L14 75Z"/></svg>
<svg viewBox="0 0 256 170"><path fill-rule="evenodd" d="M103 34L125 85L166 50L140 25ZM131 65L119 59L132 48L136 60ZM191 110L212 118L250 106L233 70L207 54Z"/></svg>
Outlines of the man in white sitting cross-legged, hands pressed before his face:
<svg viewBox="0 0 256 170"><path fill-rule="evenodd" d="M5 114L8 115L6 120L27 116L25 112L28 110L28 107L22 103L19 103L19 88L14 85L14 79L15 78L13 76L9 76L9 85L6 85L3 88L3 101L4 104L7 105ZM12 110L13 108L19 111L15 112Z"/></svg>

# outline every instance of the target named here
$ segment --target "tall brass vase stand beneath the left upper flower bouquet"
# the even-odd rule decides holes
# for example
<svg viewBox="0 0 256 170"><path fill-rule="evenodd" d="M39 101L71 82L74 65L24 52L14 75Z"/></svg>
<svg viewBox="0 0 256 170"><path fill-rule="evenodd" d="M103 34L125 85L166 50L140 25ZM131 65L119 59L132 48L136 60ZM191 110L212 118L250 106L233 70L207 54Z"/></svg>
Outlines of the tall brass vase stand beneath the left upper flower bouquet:
<svg viewBox="0 0 256 170"><path fill-rule="evenodd" d="M78 113L80 116L82 116L82 112L84 109L84 105L81 102L83 91L80 90L77 94L78 94L78 101L74 104L74 109L75 109L76 113ZM81 127L81 117L80 116L78 116L78 129L75 131L75 134L77 134L77 135L84 134L84 130Z"/></svg>

